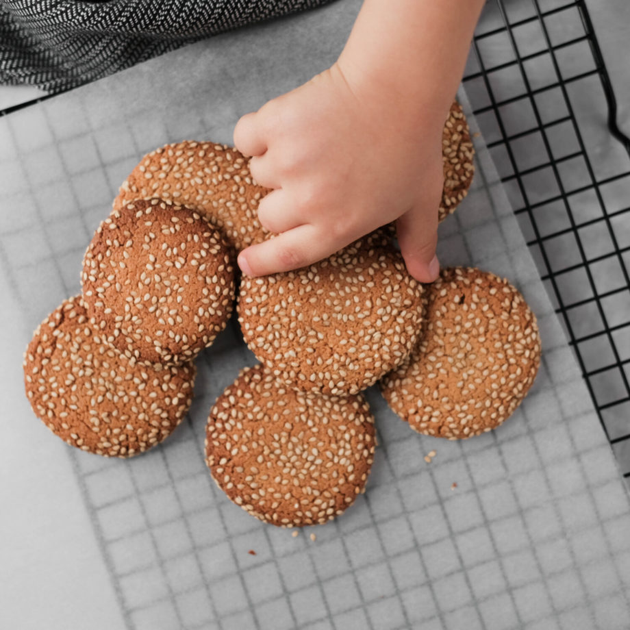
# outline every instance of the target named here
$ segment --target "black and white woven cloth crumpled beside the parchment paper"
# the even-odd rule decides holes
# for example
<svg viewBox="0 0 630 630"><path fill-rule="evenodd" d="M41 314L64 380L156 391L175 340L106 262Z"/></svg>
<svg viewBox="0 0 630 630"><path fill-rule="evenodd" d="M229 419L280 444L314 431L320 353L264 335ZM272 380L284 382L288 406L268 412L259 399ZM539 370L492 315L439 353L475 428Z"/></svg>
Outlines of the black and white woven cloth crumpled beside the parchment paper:
<svg viewBox="0 0 630 630"><path fill-rule="evenodd" d="M0 0L0 82L61 92L330 0Z"/></svg>

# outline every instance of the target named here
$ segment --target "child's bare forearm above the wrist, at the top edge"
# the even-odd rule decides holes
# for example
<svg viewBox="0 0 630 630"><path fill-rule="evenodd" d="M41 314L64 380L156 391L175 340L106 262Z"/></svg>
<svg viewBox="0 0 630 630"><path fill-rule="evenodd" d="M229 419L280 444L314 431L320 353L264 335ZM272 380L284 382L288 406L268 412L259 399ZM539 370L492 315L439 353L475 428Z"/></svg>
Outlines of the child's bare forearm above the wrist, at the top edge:
<svg viewBox="0 0 630 630"><path fill-rule="evenodd" d="M442 125L483 3L364 0L338 62L350 87L368 98L380 90L396 116L435 114Z"/></svg>

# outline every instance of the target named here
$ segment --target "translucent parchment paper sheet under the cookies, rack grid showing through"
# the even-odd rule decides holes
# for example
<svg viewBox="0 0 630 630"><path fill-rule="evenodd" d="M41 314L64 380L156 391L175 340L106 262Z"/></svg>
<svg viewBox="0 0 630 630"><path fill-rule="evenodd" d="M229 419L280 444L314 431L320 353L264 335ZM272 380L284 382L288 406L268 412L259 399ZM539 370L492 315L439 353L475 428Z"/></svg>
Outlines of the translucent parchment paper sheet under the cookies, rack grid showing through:
<svg viewBox="0 0 630 630"><path fill-rule="evenodd" d="M205 470L210 405L252 362L235 327L199 360L186 423L129 462L58 444L24 400L21 352L39 321L79 290L86 244L140 155L182 138L229 142L240 115L336 58L358 4L201 42L0 121L11 324L1 368L12 418L0 447L3 479L12 479L2 488L10 518L1 533L13 542L0 574L2 625L627 626L628 497L481 138L473 190L442 225L440 256L522 290L540 319L540 375L504 427L461 443L417 436L369 392L381 446L368 492L312 528L315 542L310 531L292 538L257 522Z"/></svg>

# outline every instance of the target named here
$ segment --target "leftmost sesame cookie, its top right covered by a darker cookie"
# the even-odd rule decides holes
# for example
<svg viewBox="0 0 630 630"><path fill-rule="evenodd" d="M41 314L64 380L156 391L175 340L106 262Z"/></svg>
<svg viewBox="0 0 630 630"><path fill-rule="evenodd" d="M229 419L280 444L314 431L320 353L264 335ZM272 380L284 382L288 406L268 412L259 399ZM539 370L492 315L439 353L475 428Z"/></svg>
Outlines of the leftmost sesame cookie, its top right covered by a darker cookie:
<svg viewBox="0 0 630 630"><path fill-rule="evenodd" d="M101 342L81 296L65 300L35 331L24 384L35 414L81 451L131 457L168 437L192 401L195 368L134 365Z"/></svg>

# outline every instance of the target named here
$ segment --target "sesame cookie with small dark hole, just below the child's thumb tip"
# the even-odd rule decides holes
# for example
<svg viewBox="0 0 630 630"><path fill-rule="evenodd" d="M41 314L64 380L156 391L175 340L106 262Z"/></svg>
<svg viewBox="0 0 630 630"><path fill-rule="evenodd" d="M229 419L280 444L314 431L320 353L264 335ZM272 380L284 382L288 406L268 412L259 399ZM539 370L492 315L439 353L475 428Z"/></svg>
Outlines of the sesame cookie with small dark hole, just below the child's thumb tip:
<svg viewBox="0 0 630 630"><path fill-rule="evenodd" d="M473 268L442 270L425 300L420 342L381 379L384 398L425 435L470 438L498 427L538 371L534 314L507 280Z"/></svg>

